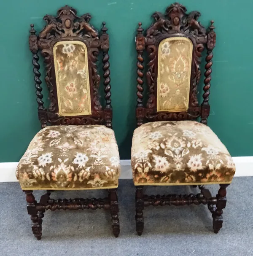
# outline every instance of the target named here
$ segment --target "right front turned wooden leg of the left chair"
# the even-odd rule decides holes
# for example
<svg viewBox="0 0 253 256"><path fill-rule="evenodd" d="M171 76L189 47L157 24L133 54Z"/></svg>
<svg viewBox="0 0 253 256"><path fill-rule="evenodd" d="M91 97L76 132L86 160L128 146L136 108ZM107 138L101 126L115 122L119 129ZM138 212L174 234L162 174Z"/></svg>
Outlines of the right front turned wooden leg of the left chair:
<svg viewBox="0 0 253 256"><path fill-rule="evenodd" d="M118 237L120 228L119 228L119 219L118 219L118 196L116 191L117 189L109 189L109 200L110 200L110 214L112 216L113 234L115 237Z"/></svg>

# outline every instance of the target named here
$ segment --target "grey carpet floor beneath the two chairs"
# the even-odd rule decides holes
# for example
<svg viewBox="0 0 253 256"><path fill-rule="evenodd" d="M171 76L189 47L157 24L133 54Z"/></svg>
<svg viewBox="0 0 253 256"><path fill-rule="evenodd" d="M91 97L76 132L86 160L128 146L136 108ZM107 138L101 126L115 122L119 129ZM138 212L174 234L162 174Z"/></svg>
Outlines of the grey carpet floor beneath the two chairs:
<svg viewBox="0 0 253 256"><path fill-rule="evenodd" d="M135 189L131 180L120 180L121 233L114 238L110 213L104 210L48 211L42 239L30 227L26 202L18 183L0 183L0 255L138 255L226 256L253 255L253 178L234 178L228 187L223 228L212 230L206 205L147 207L141 237L135 232ZM213 194L218 185L208 186ZM195 191L195 192L194 192ZM196 193L189 186L150 187L147 194ZM36 191L35 196L41 194ZM94 195L95 194L95 195ZM100 197L104 191L58 191L56 198Z"/></svg>

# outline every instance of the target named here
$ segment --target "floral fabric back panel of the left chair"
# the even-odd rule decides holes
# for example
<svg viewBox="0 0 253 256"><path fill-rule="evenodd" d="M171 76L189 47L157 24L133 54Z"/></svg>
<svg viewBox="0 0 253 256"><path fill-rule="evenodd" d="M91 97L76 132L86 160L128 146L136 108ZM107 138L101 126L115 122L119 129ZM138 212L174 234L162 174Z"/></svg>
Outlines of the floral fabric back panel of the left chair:
<svg viewBox="0 0 253 256"><path fill-rule="evenodd" d="M56 43L54 68L60 116L91 115L86 45L81 41Z"/></svg>

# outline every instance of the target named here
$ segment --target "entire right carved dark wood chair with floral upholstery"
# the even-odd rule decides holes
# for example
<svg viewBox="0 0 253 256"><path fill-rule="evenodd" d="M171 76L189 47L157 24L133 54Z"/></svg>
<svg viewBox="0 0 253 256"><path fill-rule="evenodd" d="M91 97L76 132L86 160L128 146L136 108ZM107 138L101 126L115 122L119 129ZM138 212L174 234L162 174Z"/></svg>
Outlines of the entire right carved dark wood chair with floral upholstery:
<svg viewBox="0 0 253 256"><path fill-rule="evenodd" d="M226 147L207 127L215 32L197 20L198 11L174 3L166 13L153 13L155 22L145 35L139 23L137 49L137 129L132 139L131 164L136 186L136 230L143 232L143 209L153 205L207 204L215 233L222 227L226 187L235 166ZM197 100L200 57L207 48L203 102ZM148 53L148 101L143 105L143 52ZM200 117L200 122L196 121ZM144 121L148 123L144 124ZM205 184L220 184L215 197ZM143 194L143 186L194 185L189 195Z"/></svg>

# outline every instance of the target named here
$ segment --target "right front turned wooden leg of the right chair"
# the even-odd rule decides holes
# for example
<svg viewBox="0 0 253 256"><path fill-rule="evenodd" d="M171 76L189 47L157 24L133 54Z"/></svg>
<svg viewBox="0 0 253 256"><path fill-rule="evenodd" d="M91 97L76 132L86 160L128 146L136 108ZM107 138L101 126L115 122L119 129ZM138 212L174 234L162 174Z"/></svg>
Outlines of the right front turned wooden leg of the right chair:
<svg viewBox="0 0 253 256"><path fill-rule="evenodd" d="M217 204L216 204L216 210L213 212L213 230L215 234L217 234L223 223L222 213L225 207L226 207L226 187L229 186L228 184L220 184L220 189L217 194Z"/></svg>

